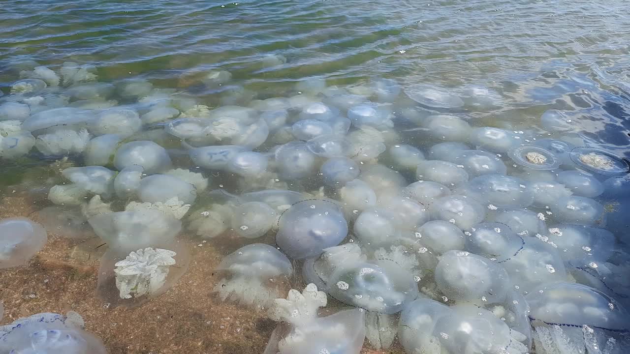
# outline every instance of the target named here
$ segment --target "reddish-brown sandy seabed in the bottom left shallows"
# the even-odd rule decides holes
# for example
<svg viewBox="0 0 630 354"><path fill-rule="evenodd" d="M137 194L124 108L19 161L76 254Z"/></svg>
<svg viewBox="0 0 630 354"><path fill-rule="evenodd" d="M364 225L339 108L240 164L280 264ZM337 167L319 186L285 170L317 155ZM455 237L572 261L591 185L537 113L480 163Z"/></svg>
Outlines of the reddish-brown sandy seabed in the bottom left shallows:
<svg viewBox="0 0 630 354"><path fill-rule="evenodd" d="M2 198L2 219L37 215L36 205L20 194ZM261 354L265 350L276 325L265 311L221 302L212 294L221 280L213 270L229 253L221 245L186 241L191 262L183 277L165 294L125 309L96 297L100 256L106 248L100 239L67 239L55 230L47 231L48 243L26 265L0 270L4 304L0 324L40 312L76 311L83 316L85 329L101 338L110 354ZM329 310L324 307L321 312L326 316ZM369 348L366 341L361 353L404 354L404 350L398 341L388 350Z"/></svg>

